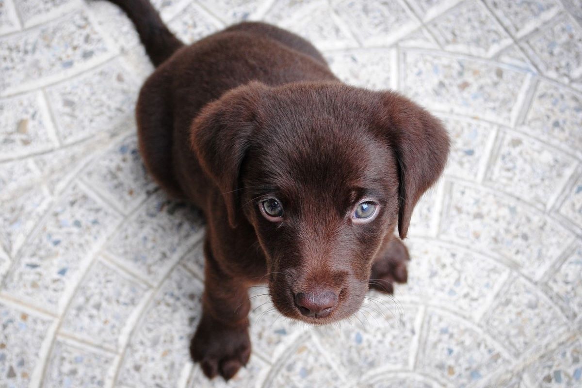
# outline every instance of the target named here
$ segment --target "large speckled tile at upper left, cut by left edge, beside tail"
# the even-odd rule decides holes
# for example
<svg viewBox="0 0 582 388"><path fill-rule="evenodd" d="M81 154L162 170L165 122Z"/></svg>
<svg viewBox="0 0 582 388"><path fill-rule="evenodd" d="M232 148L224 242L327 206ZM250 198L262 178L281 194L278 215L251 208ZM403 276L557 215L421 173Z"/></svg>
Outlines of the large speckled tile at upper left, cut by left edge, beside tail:
<svg viewBox="0 0 582 388"><path fill-rule="evenodd" d="M0 94L62 78L111 54L83 10L68 13L34 30L0 38Z"/></svg>

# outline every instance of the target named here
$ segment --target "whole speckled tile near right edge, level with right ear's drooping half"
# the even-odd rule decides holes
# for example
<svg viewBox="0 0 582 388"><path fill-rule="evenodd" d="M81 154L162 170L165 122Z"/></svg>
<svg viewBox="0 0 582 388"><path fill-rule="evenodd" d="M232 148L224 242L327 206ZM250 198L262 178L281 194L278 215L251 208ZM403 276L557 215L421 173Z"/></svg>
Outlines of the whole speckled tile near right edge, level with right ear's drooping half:
<svg viewBox="0 0 582 388"><path fill-rule="evenodd" d="M501 149L491 161L487 181L544 209L574 172L576 159L524 134L502 134Z"/></svg>

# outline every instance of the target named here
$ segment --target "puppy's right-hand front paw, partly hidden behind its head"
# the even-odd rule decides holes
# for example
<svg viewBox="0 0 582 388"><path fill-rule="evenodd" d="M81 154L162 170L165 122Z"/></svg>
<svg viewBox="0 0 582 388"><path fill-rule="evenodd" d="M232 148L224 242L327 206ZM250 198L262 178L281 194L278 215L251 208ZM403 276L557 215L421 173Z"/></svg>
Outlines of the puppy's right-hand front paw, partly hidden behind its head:
<svg viewBox="0 0 582 388"><path fill-rule="evenodd" d="M394 238L388 243L386 250L376 259L372 265L370 274L371 289L392 294L394 283L406 283L408 280L407 264L410 256L406 245Z"/></svg>

